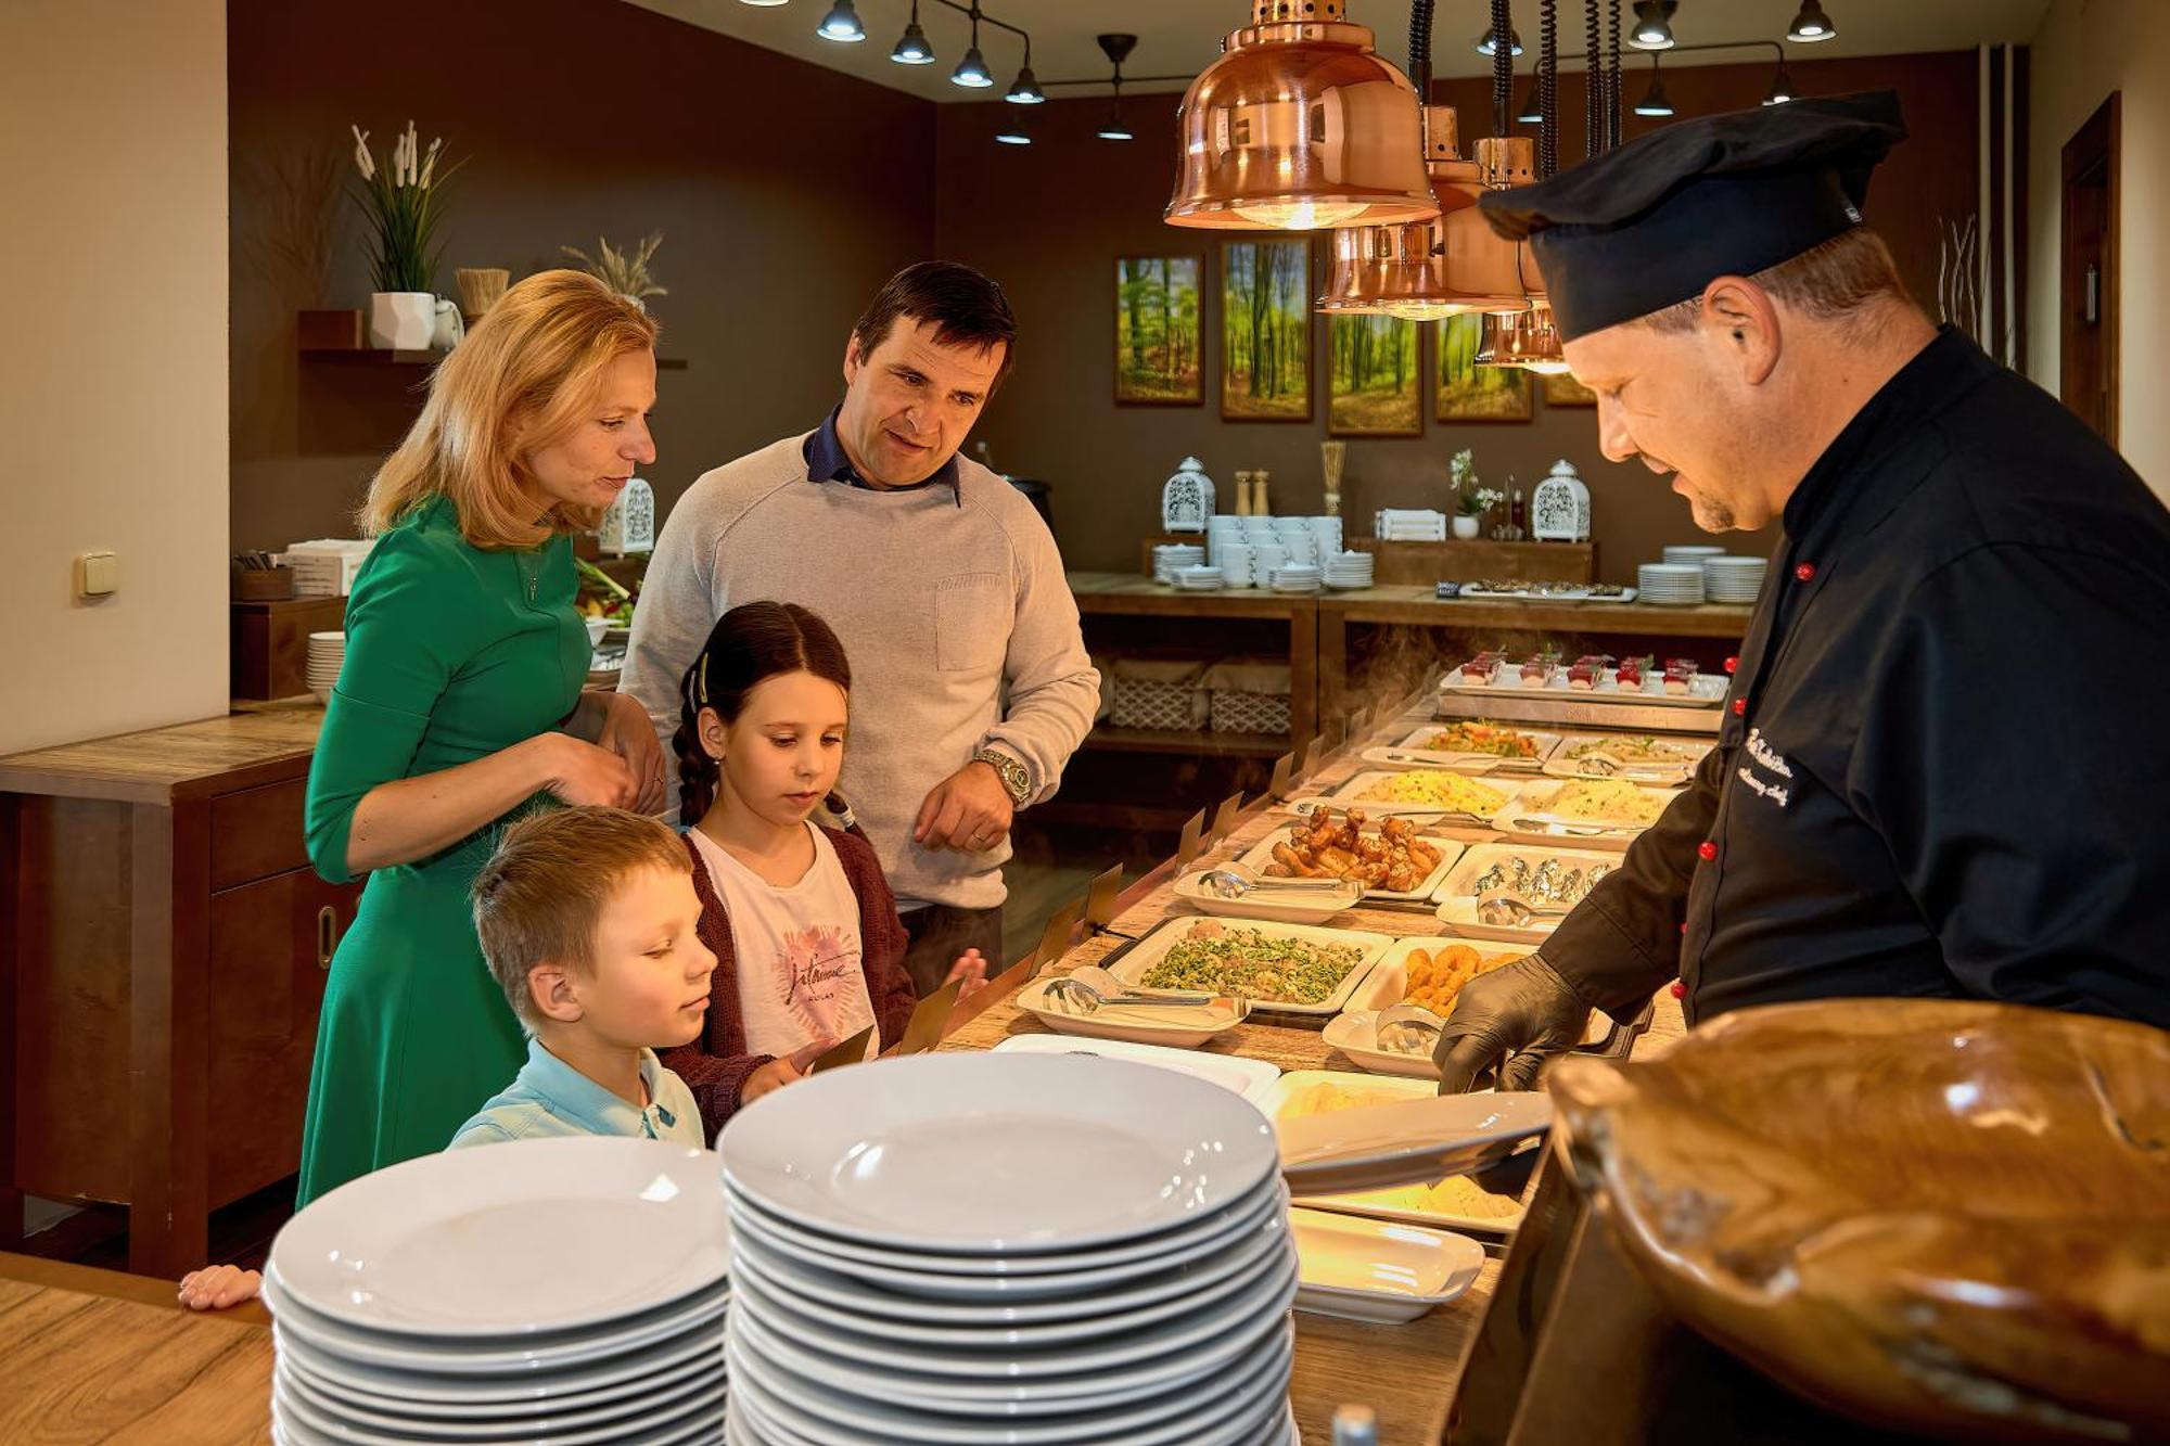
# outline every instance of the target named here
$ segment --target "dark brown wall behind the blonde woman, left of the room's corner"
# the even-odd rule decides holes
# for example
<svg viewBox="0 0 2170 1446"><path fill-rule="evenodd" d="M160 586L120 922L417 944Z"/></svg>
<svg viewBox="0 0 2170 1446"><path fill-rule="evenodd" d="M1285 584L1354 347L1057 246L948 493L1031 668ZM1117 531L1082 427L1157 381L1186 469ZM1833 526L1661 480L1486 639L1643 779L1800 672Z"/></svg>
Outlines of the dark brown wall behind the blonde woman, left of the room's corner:
<svg viewBox="0 0 2170 1446"><path fill-rule="evenodd" d="M933 241L933 106L618 0L380 0L367 11L228 2L232 113L232 545L352 534L378 460L414 415L419 369L302 367L302 306L367 306L343 198L323 289L282 258L302 234L304 150L345 187L347 124L388 150L408 117L467 156L443 228L454 267L514 278L562 243L662 230L671 295L658 495L814 426L842 386L866 297ZM304 206L306 208L306 206ZM321 248L319 248L321 250Z"/></svg>

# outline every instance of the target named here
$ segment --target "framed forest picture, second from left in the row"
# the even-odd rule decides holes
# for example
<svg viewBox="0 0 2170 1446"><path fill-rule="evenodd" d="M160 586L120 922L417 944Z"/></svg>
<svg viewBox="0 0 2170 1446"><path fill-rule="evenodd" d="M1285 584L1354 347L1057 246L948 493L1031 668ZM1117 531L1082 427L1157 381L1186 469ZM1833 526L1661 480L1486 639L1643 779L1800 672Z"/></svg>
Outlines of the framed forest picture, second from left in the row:
<svg viewBox="0 0 2170 1446"><path fill-rule="evenodd" d="M1311 421L1311 241L1222 241L1222 419Z"/></svg>

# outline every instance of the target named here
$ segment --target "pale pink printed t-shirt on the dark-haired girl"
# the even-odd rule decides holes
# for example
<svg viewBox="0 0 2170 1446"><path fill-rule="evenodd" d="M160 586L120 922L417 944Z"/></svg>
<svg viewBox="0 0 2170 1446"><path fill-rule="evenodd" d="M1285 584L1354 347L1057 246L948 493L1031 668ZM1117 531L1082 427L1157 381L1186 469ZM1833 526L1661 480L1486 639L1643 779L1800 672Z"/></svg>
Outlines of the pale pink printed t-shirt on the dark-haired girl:
<svg viewBox="0 0 2170 1446"><path fill-rule="evenodd" d="M716 897L731 914L738 953L738 1010L749 1055L788 1055L816 1040L848 1040L875 1025L859 957L859 897L851 892L835 845L814 823L814 866L777 886L692 829ZM877 1025L866 1053L881 1049Z"/></svg>

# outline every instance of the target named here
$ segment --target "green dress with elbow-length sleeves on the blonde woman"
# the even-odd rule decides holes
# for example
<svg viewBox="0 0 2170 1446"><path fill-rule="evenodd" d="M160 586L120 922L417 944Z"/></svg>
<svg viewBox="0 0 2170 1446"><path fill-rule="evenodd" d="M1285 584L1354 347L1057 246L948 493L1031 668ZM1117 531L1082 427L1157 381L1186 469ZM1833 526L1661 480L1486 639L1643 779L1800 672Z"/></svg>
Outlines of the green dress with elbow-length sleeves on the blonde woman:
<svg viewBox="0 0 2170 1446"><path fill-rule="evenodd" d="M308 773L308 853L347 881L362 795L558 727L588 677L573 543L484 551L438 497L378 538L347 599L347 658ZM467 890L499 829L378 868L339 942L302 1129L306 1205L414 1155L512 1083L525 1033L482 962Z"/></svg>

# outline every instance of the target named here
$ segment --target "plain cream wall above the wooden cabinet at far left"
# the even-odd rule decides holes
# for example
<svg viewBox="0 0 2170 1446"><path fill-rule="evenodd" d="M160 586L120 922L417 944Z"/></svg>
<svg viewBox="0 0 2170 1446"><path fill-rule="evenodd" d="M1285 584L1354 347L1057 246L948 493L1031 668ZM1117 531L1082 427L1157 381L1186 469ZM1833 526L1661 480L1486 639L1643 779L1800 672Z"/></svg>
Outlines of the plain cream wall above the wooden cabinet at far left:
<svg viewBox="0 0 2170 1446"><path fill-rule="evenodd" d="M0 195L0 753L226 712L224 0L4 0Z"/></svg>

